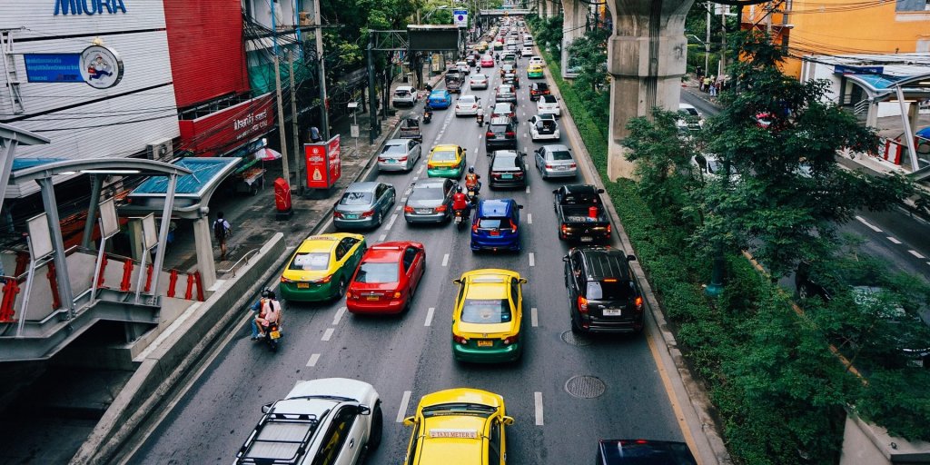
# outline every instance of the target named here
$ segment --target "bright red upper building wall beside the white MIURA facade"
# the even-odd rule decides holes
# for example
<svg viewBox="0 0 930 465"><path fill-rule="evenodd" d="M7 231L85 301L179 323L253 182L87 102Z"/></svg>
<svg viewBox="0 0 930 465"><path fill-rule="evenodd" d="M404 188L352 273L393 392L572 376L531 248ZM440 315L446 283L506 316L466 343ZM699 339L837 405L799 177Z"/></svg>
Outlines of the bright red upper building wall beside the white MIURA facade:
<svg viewBox="0 0 930 465"><path fill-rule="evenodd" d="M178 107L249 89L240 0L165 0Z"/></svg>

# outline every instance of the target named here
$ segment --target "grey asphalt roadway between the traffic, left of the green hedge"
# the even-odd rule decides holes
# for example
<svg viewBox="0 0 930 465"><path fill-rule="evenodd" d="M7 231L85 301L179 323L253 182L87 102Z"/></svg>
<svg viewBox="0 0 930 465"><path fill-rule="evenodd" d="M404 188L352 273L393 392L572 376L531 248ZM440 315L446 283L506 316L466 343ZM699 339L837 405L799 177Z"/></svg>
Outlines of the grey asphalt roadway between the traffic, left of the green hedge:
<svg viewBox="0 0 930 465"><path fill-rule="evenodd" d="M529 140L527 118L536 113L528 99L525 60L518 91L520 150L539 146ZM489 90L471 93L485 107L493 102L497 69ZM421 107L417 109L421 110ZM301 379L347 377L372 383L385 418L384 441L369 463L400 463L410 431L400 422L412 415L420 396L452 387L472 387L503 395L515 419L508 432L508 462L555 464L589 461L598 438L650 438L684 441L657 362L644 336L571 337L562 273L567 246L556 238L551 190L559 183L543 181L530 171L529 187L490 191L484 129L472 117L453 111L434 113L425 127L424 155L436 143L457 143L468 151L468 163L483 175L484 198L512 197L524 206L523 251L508 255L473 255L468 231L452 225L410 227L399 199L396 215L379 229L365 233L368 243L412 240L427 251L427 272L413 308L400 317L358 317L344 312L343 302L324 305L285 303L286 338L271 353L248 339L245 327L219 353L204 375L179 401L140 447L132 463L208 463L230 460L260 418L260 406L282 398ZM563 136L562 143L567 144ZM398 194L426 177L426 156L410 173L379 174ZM578 179L580 182L582 179ZM525 285L523 359L513 365L460 365L452 360L450 327L453 279L479 268L520 272ZM244 309L243 312L246 312ZM244 313L245 314L245 313ZM566 392L569 379L595 377L596 393L579 398Z"/></svg>

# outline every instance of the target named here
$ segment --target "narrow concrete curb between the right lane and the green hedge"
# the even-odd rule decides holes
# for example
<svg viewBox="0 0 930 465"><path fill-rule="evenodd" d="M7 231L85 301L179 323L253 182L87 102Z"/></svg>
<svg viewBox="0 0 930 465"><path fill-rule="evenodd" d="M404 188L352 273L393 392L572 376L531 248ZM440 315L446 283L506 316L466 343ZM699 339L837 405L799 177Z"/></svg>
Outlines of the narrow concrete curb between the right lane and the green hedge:
<svg viewBox="0 0 930 465"><path fill-rule="evenodd" d="M550 68L547 66L543 68L543 70L550 79L550 82L554 83L555 81L552 79ZM554 87L558 89L558 86ZM571 112L569 112L568 108L565 106L565 100L561 98L561 95L558 95L558 98L559 106L562 108L562 119L569 123L567 125L562 125L562 129L568 136L572 148L576 153L575 159L582 167L582 175L586 182L603 189L604 181L591 163L591 154L588 153L587 147L585 147L584 142L581 140L578 127L575 126L575 120L572 118ZM623 224L617 216L617 211L614 209L614 204L610 196L604 195L603 199L604 206L607 207L607 212L610 215L611 222L614 224L615 232L617 233L623 249L635 252L635 248L631 245L630 237L627 236L626 231L623 229ZM637 283L640 285L640 288L643 289L646 304L649 307L649 315L651 316L649 321L652 325L646 325L646 337L647 339L651 339L650 345L652 345L652 341L657 341L664 345L664 351L655 351L658 352L662 362L662 365L658 368L663 372L663 378L667 379L671 384L671 389L674 393L674 398L670 399L672 408L676 416L680 417L679 420L682 420L681 417L684 417L684 422L688 426L691 439L693 440L691 445L695 449L698 463L702 465L729 465L733 463L724 445L720 429L711 416L711 400L708 398L707 392L704 391L704 387L695 379L688 365L685 364L684 356L678 349L678 342L671 333L671 329L665 320L665 314L662 312L662 308L658 303L652 286L649 285L648 280L645 278L645 272L642 266L639 261L632 262L631 266L636 275ZM688 436L688 432L684 432L684 434L685 437Z"/></svg>

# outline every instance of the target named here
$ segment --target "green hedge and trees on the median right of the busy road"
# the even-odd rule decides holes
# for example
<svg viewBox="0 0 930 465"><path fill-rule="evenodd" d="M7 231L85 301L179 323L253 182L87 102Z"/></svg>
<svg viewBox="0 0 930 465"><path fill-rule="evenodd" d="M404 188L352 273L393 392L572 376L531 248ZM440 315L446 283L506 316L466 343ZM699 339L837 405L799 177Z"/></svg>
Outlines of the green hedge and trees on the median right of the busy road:
<svg viewBox="0 0 930 465"><path fill-rule="evenodd" d="M543 24L538 19L529 22L538 36L536 30ZM772 53L761 42L747 46L758 53ZM602 179L608 179L608 127L602 122L609 117L604 103L609 90L590 86L600 79L597 76L582 86L578 83L585 82L583 79L566 83L549 47L540 48L594 165ZM764 56L761 60L771 62L774 58ZM763 241L766 267L776 264L778 275L799 259L841 260L848 259L848 253L855 257L855 251L843 247L840 251L847 255L836 253L842 242L828 223L848 219L859 206L878 206L875 193L887 195L887 200L903 197L910 189L903 179L875 183L832 171L835 167L830 167L830 154L835 144L865 146L873 135L850 126L843 114L818 106L815 98L822 89L817 85L798 88L769 73L767 64L756 71L762 73L752 84L765 92L744 89L739 97L724 100L740 106L724 115L741 118L739 126L724 119L711 122L707 139L684 142L677 137L675 113L657 112L652 121L634 120L627 143L633 156L640 159L641 179L605 182L686 359L711 395L727 447L742 463L798 463L803 458L810 463L836 463L847 405L856 405L857 413L894 434L930 438L930 424L921 420L930 418L925 389L930 370L876 368L870 373L870 382L864 384L830 352L826 333L846 323L835 316L838 313L799 316L774 280L761 275L739 255L750 241ZM743 68L740 72L754 70ZM768 91L771 88L778 91ZM766 138L775 136L749 122L754 121L751 118L756 112L782 109L785 96L795 99L790 101L792 110L804 120L803 125L790 129L790 136L801 143L793 148L784 144L763 147ZM801 112L808 109L811 113ZM789 122L779 118L777 124ZM696 142L724 153L735 165L743 164L744 172L763 172L762 179L744 176L739 184L745 187L734 186L732 181L696 179L691 171L691 155L699 146ZM814 150L810 150L811 144ZM762 150L764 156L754 156L758 152L747 147ZM809 171L801 166L805 160L799 156L802 150L812 152L809 163L817 179L806 178ZM764 177L766 169L771 178ZM799 184L807 193L797 191ZM815 202L792 200L792 193L813 195ZM779 204L782 201L788 202L785 208ZM822 241L813 240L811 236L816 234L811 231L821 232L817 237ZM706 299L701 287L709 281L709 259L717 250L709 245L726 251L728 280L717 300ZM896 279L889 276L882 284L904 297L904 288L895 286ZM925 284L911 284L917 287L910 298L925 300ZM849 307L848 301L845 304ZM834 316L824 319L830 314ZM869 335L868 322L857 324L861 325L857 330Z"/></svg>

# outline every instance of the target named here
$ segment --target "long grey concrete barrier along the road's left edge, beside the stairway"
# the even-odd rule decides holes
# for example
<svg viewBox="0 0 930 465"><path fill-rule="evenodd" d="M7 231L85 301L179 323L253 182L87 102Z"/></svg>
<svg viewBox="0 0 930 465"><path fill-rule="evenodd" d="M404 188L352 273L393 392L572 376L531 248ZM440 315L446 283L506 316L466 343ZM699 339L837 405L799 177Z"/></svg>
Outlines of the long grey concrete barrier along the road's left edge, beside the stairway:
<svg viewBox="0 0 930 465"><path fill-rule="evenodd" d="M250 260L204 302L193 304L140 353L139 367L107 408L70 463L117 461L123 445L160 406L207 349L231 330L264 284L286 259L284 234L275 233Z"/></svg>

